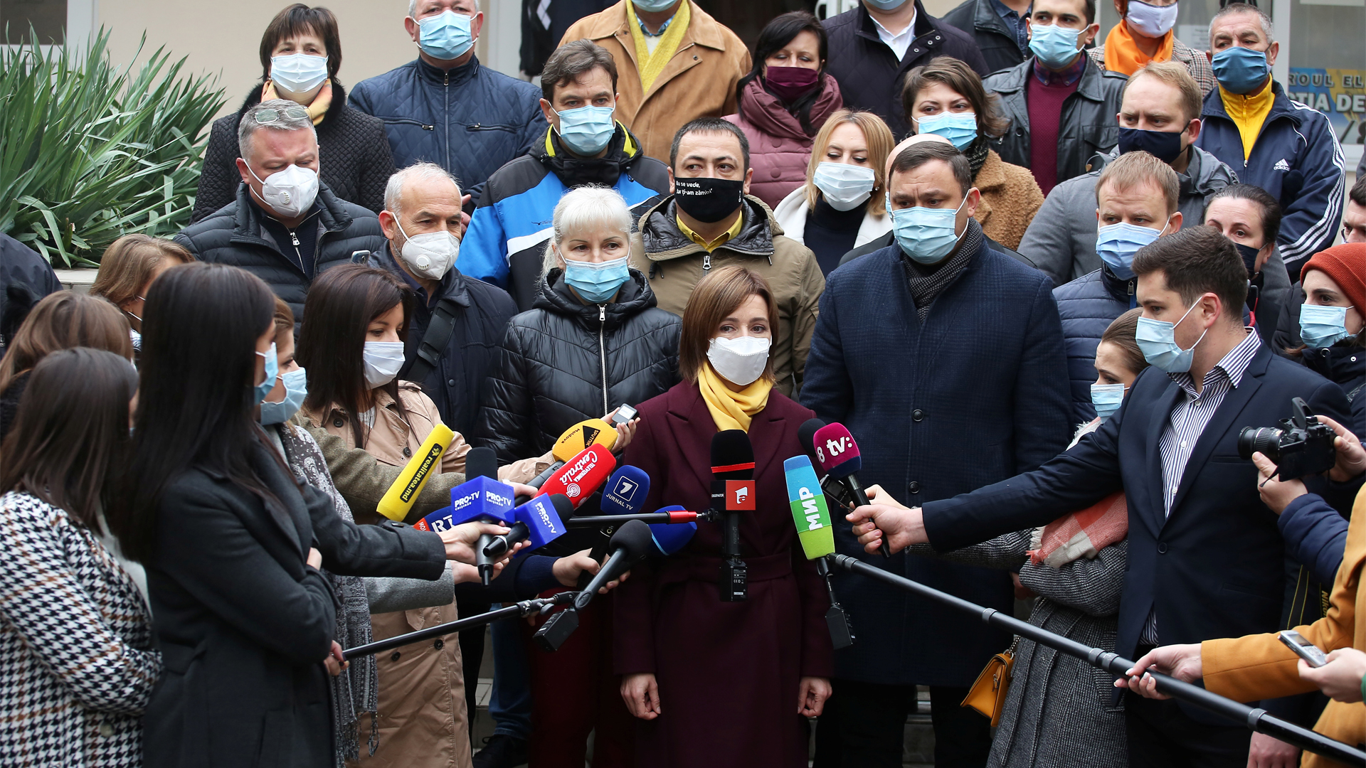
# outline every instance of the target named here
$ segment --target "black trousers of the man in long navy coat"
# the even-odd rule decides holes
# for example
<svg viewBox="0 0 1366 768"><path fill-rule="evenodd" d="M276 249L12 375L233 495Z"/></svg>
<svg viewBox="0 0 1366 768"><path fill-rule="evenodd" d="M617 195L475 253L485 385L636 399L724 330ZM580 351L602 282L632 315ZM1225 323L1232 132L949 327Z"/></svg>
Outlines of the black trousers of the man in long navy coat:
<svg viewBox="0 0 1366 768"><path fill-rule="evenodd" d="M915 686L831 681L835 694L816 727L816 768L902 768ZM982 768L992 722L959 705L966 687L930 686L934 768Z"/></svg>

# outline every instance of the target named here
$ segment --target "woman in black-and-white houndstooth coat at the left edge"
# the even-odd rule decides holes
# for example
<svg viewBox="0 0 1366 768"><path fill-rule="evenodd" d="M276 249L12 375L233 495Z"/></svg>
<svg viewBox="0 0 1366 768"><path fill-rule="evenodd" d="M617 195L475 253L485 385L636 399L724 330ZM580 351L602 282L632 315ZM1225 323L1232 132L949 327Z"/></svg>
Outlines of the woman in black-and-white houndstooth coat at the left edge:
<svg viewBox="0 0 1366 768"><path fill-rule="evenodd" d="M161 657L100 512L138 374L78 347L42 358L29 383L0 445L0 764L135 767Z"/></svg>

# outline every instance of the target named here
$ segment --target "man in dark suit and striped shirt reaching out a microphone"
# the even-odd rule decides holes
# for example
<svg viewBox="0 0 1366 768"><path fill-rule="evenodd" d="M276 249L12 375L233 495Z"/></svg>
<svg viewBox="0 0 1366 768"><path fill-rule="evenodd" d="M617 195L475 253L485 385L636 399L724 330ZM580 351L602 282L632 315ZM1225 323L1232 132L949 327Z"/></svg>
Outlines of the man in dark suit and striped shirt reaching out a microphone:
<svg viewBox="0 0 1366 768"><path fill-rule="evenodd" d="M884 532L892 551L923 541L949 551L1123 489L1128 571L1115 650L1137 659L1158 644L1279 629L1284 547L1238 435L1290 415L1291 398L1341 421L1347 398L1243 327L1247 268L1214 228L1158 238L1132 269L1139 346L1153 365L1097 432L1035 471L919 508L877 491L850 521L870 551ZM1247 764L1243 724L1135 696L1126 720L1130 765Z"/></svg>

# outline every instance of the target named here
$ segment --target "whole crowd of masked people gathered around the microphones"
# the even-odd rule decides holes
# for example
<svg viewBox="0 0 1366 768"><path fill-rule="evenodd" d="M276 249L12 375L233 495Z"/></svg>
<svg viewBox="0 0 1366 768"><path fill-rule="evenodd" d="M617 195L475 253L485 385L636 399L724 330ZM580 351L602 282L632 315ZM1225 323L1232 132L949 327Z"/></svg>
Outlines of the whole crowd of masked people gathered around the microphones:
<svg viewBox="0 0 1366 768"><path fill-rule="evenodd" d="M750 51L693 0L535 5L540 85L479 63L477 0L408 0L417 59L350 92L336 18L290 5L173 239L120 238L85 294L0 235L0 764L895 768L926 686L941 768L1300 761L1150 667L1366 741L1366 174L1272 77L1265 12L1183 42L1177 0L1115 0L1104 40L1094 0L862 0ZM1283 478L1238 441L1296 398L1336 463ZM706 508L712 437L749 435L746 601L702 522L555 653L550 615L494 622L479 743L482 629L346 659L596 574L600 530L484 585L507 526L410 523L471 450L531 495L623 404L647 510ZM783 480L811 418L869 485L840 553L1027 599L1132 676L826 590ZM993 723L962 702L1007 649Z"/></svg>

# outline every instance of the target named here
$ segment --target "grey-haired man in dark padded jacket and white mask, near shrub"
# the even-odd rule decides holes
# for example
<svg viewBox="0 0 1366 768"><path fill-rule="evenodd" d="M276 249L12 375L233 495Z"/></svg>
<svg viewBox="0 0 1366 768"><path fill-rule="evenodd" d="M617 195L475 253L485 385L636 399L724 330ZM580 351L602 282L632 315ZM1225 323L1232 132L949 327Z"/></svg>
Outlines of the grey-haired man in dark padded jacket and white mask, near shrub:
<svg viewBox="0 0 1366 768"><path fill-rule="evenodd" d="M199 261L251 272L303 321L303 297L324 269L358 250L378 250L384 232L369 209L318 180L318 138L309 112L283 98L251 107L238 124L236 200L175 236Z"/></svg>

